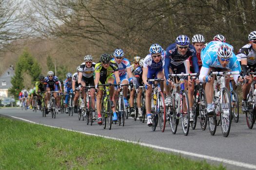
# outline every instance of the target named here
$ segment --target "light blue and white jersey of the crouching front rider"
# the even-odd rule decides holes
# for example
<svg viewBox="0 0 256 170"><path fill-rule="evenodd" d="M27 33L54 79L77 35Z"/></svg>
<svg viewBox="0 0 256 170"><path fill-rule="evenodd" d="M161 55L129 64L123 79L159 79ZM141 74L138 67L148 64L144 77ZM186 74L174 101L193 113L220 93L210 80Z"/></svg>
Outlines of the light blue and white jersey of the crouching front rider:
<svg viewBox="0 0 256 170"><path fill-rule="evenodd" d="M211 41L205 48L201 51L201 59L204 68L223 68L219 63L217 50L220 45L225 44L233 49L230 44L223 43L220 41ZM226 69L230 69L231 71L241 71L240 63L237 60L235 53L233 52L232 57L226 67Z"/></svg>

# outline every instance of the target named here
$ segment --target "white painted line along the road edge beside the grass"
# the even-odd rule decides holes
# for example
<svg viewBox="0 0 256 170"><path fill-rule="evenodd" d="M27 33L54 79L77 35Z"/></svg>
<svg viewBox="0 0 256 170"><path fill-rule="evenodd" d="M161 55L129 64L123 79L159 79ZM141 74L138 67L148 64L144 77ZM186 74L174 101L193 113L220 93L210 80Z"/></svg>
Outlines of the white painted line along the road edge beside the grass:
<svg viewBox="0 0 256 170"><path fill-rule="evenodd" d="M203 159L209 159L209 160L213 160L213 161L217 161L217 162L222 162L222 163L234 165L234 166L237 166L237 167L242 167L242 168L247 168L247 169L255 169L256 170L256 165L247 164L247 163L244 163L244 162L238 162L238 161L234 161L234 160L230 160L230 159L223 159L223 158L218 158L218 157L208 156L208 155L203 155L203 154L191 153L191 152L181 151L181 150L172 149L172 148L165 148L165 147L161 147L161 146L157 146L157 145L151 145L151 144L142 143L142 142L130 141L130 140L120 139L120 138L116 138L116 137L102 136L102 135L90 134L90 133L80 132L80 131L71 130L71 129L60 128L60 127L41 124L41 123L37 123L37 122L31 121L31 120L22 119L22 118L18 118L18 117L14 117L14 116L10 116L10 117L15 118L15 119L20 119L20 120L23 120L23 121L26 121L26 122L34 123L34 124L43 125L43 126L63 129L63 130L72 131L72 132L78 132L78 133L85 134L85 135L90 135L90 136L98 136L98 137L104 137L104 138L107 138L107 139L124 141L124 142L138 144L138 145L146 146L146 147L150 147L150 148L160 149L160 150L174 152L174 153L180 153L180 154L189 155L189 156L195 156L195 157L199 157L199 158L203 158Z"/></svg>

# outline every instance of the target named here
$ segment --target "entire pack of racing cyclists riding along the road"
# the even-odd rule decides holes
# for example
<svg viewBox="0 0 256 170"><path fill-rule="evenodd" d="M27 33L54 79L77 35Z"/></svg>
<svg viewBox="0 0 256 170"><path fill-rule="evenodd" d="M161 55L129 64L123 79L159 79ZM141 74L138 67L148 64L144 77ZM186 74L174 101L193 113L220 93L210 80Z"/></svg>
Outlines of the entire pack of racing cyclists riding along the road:
<svg viewBox="0 0 256 170"><path fill-rule="evenodd" d="M113 121L118 120L117 102L120 85L123 89L124 103L127 107L130 106L130 116L134 117L136 109L138 109L138 117L141 118L141 95L145 93L145 109L147 125L152 126L152 82L148 79L164 79L160 82L161 91L165 94L164 104L170 106L172 104L171 90L174 82L169 78L170 74L189 74L197 73L196 78L186 76L185 89L188 92L190 117L185 119L186 123L193 123L193 117L196 116L195 109L193 109L193 96L195 92L195 85L200 82L204 84L207 101L207 116L215 116L213 94L214 94L214 80L215 75L211 75L213 71L235 71L239 74L234 74L231 78L226 76L226 85L232 79L234 85L242 86L242 111L247 111L248 93L251 84L253 83L253 76L248 74L248 71L256 71L256 31L248 35L249 44L244 45L237 53L234 52L232 45L226 43L223 35L217 34L213 40L206 43L205 38L201 34L196 34L192 37L192 42L187 35L178 35L175 42L170 44L164 50L159 44L152 44L149 48L149 53L145 57L135 56L133 63L125 56L122 49L116 49L113 53L103 53L99 57L99 62L95 63L92 55L85 55L84 62L80 64L77 71L72 74L68 72L66 79L63 81L65 94L65 107L68 105L69 95L74 95L74 112L78 113L78 101L81 100L80 106L85 107L86 103L86 86L93 86L90 89L90 96L92 99L93 119L98 117L98 124L102 124L101 117L101 99L104 87L102 84L112 84L109 86L109 96L111 109L113 111ZM179 78L177 77L177 81ZM246 82L246 83L244 83ZM50 109L49 100L50 92L53 91L53 96L56 100L56 105L60 108L60 95L62 88L60 81L55 76L53 71L48 71L47 76L39 76L36 82L35 89L28 93L23 90L20 93L20 100L31 96L38 96L40 101L40 94L45 95L45 112L48 113ZM141 88L141 87L144 88ZM229 89L229 86L227 86ZM128 102L128 94L129 102ZM137 96L136 105L134 102L135 95ZM29 101L30 105L32 100ZM40 102L38 102L41 105ZM67 110L66 110L67 112ZM97 112L97 114L96 114ZM177 118L179 113L177 114Z"/></svg>

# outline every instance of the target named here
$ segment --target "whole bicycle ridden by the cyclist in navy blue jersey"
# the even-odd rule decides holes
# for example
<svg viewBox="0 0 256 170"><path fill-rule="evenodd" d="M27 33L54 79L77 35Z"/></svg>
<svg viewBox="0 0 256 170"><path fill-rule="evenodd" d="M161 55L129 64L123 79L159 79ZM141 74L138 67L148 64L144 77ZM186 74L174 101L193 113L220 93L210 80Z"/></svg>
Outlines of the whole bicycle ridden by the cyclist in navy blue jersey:
<svg viewBox="0 0 256 170"><path fill-rule="evenodd" d="M177 125L179 123L179 118L181 118L182 131L185 136L189 133L190 127L190 112L189 112L189 100L188 93L185 89L185 77L187 76L196 76L197 73L192 74L169 74L169 79L174 82L172 89L172 102L171 106L168 106L167 117L171 130L173 134L177 132ZM177 82L173 80L174 78L179 77L180 80ZM179 90L178 90L179 87Z"/></svg>

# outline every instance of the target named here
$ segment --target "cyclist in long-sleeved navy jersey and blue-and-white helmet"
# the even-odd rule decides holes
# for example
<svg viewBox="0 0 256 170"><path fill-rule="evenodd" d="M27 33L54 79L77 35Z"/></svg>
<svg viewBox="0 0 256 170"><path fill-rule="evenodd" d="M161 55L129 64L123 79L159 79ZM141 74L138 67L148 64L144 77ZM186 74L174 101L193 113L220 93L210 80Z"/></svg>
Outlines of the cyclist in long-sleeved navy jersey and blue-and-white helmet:
<svg viewBox="0 0 256 170"><path fill-rule="evenodd" d="M170 105L171 104L171 81L168 78L168 75L170 73L174 72L176 69L176 73L189 73L189 64L187 63L187 59L191 57L192 65L194 68L194 72L199 72L198 63L197 63L197 55L196 55L196 49L193 45L190 44L190 39L187 35L179 35L176 38L176 42L171 44L169 47L167 47L165 54L164 54L164 76L166 79L166 99L165 104ZM189 80L189 82L187 81ZM189 86L188 86L189 85ZM190 88L192 87L192 82L190 81L189 77L185 78L185 86L188 86L188 96L189 96L189 103L192 103L193 93L194 91ZM193 122L193 114L190 114L190 122ZM179 118L179 113L177 114L177 118ZM184 119L186 122L187 120ZM187 123L187 122L186 122ZM185 124L186 124L185 123Z"/></svg>

